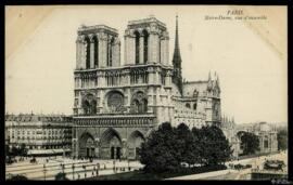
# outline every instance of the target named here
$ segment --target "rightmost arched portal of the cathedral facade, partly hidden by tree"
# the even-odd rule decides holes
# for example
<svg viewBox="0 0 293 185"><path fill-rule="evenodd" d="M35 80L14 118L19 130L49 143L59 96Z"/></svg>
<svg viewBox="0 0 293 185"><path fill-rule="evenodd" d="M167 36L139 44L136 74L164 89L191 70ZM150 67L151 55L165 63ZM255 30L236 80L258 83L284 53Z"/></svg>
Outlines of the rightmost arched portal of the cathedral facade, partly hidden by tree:
<svg viewBox="0 0 293 185"><path fill-rule="evenodd" d="M144 136L141 132L135 131L128 137L128 158L138 159L138 150L141 148L141 143L144 142Z"/></svg>

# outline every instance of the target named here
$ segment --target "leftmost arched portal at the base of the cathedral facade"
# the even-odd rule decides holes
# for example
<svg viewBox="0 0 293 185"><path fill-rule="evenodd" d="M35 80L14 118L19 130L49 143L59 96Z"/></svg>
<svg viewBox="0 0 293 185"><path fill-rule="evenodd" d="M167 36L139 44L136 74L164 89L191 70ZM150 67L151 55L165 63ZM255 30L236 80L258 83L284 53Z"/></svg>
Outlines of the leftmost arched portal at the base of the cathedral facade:
<svg viewBox="0 0 293 185"><path fill-rule="evenodd" d="M94 140L88 132L84 133L79 138L79 156L86 158L95 157Z"/></svg>

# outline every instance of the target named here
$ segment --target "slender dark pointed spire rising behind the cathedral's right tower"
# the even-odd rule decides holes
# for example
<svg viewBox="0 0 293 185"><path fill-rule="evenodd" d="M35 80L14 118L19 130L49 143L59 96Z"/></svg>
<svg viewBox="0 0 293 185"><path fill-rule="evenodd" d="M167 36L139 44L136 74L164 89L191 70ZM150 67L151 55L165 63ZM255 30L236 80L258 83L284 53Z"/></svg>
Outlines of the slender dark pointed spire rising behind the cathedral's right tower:
<svg viewBox="0 0 293 185"><path fill-rule="evenodd" d="M178 15L176 15L175 47L171 61L174 67L173 82L178 87L182 95L183 88L182 88L181 62L182 60L179 49L179 34L178 34Z"/></svg>

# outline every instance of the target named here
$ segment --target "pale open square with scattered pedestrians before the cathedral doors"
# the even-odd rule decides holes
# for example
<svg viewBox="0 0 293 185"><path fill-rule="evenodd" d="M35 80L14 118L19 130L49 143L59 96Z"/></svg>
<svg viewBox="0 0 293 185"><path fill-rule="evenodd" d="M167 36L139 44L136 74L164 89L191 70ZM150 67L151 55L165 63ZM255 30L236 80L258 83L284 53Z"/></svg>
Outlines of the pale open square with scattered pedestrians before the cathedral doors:
<svg viewBox="0 0 293 185"><path fill-rule="evenodd" d="M29 160L26 160L7 166L5 176L8 179L10 175L23 174L29 180L48 181L54 180L58 173L64 172L66 173L66 177L69 180L81 180L97 175L129 172L128 167L130 167L130 171L142 168L142 164L138 161L129 161L128 164L126 160L116 160L114 164L113 160L93 160L90 162L89 160L73 160L69 158L59 157L51 158L47 162L47 159L49 158L37 158L38 163L30 163ZM64 168L62 168L61 163L64 164ZM97 173L98 163L100 166L100 170L98 170ZM75 167L74 169L73 164ZM114 170L114 166L116 170Z"/></svg>

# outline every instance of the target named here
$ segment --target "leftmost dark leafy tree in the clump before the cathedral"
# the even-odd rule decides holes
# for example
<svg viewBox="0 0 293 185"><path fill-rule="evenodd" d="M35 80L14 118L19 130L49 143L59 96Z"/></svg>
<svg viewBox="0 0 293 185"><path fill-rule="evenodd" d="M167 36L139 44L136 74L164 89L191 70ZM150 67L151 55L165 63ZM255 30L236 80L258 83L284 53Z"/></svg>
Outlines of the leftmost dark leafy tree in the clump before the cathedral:
<svg viewBox="0 0 293 185"><path fill-rule="evenodd" d="M176 148L176 130L169 122L162 123L141 145L140 162L148 172L174 172L180 168Z"/></svg>

